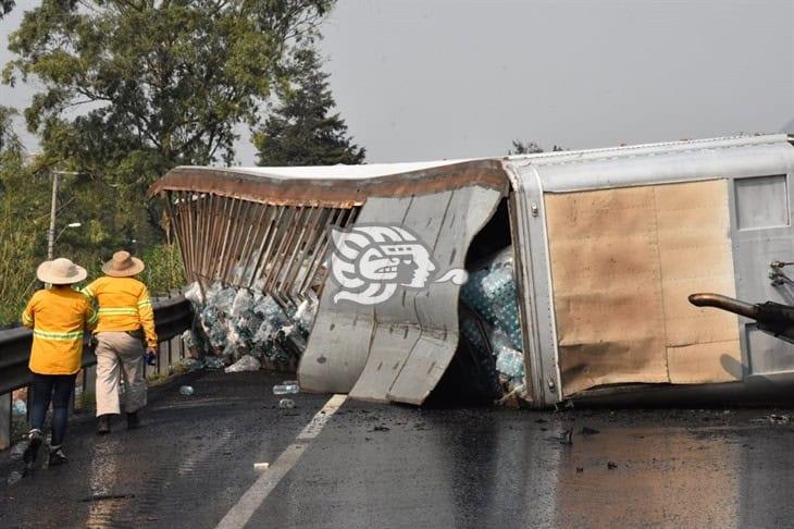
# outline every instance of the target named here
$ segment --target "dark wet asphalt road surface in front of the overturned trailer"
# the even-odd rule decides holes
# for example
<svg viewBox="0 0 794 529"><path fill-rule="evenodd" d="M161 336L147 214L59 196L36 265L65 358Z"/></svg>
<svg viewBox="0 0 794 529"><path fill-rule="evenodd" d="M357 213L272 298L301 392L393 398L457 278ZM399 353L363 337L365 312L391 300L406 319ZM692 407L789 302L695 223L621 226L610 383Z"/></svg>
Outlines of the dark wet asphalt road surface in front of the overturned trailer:
<svg viewBox="0 0 794 529"><path fill-rule="evenodd" d="M73 422L69 465L0 484L0 527L215 527L330 397L283 410L282 376L193 377L193 396L153 392L141 430ZM789 415L348 401L255 494L248 527L790 526L794 426L772 413ZM3 478L20 465L0 454Z"/></svg>

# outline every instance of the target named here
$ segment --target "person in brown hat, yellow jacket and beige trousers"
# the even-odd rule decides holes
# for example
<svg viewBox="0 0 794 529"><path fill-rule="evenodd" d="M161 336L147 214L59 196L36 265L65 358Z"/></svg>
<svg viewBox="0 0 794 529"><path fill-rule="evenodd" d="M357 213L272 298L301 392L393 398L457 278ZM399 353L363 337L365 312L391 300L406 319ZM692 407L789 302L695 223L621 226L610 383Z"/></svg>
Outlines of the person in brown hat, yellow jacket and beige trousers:
<svg viewBox="0 0 794 529"><path fill-rule="evenodd" d="M144 354L157 355L154 312L146 285L134 278L144 261L128 251L116 251L102 266L99 278L83 290L99 307L97 337L97 433L110 432L110 418L121 414L120 376L124 377L127 428L139 425L138 410L146 406Z"/></svg>

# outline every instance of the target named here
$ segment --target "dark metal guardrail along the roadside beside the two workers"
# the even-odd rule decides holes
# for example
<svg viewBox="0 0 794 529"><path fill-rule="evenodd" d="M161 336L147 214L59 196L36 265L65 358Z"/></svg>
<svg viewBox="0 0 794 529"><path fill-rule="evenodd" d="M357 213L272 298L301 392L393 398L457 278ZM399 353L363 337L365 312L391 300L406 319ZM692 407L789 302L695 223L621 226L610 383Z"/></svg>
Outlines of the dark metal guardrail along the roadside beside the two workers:
<svg viewBox="0 0 794 529"><path fill-rule="evenodd" d="M147 366L147 374L154 371L168 374L171 371L173 341L193 324L193 307L190 302L178 295L168 298L158 298L152 303L154 308L154 327L158 339L157 366ZM12 398L14 390L25 387L30 381L30 371L27 368L30 358L33 332L25 328L14 328L0 331L0 450L4 450L11 442ZM163 350L165 349L165 352ZM163 353L168 358L163 358ZM178 356L184 356L184 346L178 341ZM83 348L83 390L92 385L96 373L94 366L97 357L87 346ZM90 380L89 380L90 379ZM28 395L29 409L29 395Z"/></svg>

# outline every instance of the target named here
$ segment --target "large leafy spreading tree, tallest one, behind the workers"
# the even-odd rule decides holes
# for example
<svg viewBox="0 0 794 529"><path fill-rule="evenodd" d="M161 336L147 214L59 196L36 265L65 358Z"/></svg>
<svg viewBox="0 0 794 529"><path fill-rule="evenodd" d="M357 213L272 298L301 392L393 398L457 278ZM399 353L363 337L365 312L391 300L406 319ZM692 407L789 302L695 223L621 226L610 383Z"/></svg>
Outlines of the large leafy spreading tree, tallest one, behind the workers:
<svg viewBox="0 0 794 529"><path fill-rule="evenodd" d="M146 188L174 165L232 162L235 126L258 123L333 1L44 0L10 36L3 81L45 87L27 126L42 168L82 173L94 239L157 241Z"/></svg>

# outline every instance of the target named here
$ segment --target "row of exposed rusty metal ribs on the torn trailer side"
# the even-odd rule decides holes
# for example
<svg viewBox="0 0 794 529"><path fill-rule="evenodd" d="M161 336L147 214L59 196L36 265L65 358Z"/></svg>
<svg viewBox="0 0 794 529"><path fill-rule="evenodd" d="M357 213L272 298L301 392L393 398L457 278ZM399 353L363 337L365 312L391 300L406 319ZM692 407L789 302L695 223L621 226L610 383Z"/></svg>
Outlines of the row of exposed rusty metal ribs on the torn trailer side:
<svg viewBox="0 0 794 529"><path fill-rule="evenodd" d="M351 224L359 206L284 206L212 193L163 193L188 281L215 281L299 304L318 278L331 226Z"/></svg>

